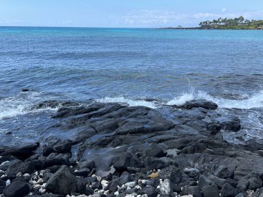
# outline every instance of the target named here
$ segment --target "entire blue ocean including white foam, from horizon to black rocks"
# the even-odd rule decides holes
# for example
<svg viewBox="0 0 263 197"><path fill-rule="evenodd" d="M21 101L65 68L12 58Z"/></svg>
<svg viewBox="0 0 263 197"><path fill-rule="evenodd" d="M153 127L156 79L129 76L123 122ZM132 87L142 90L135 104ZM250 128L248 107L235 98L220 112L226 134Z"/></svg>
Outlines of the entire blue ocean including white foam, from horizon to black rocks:
<svg viewBox="0 0 263 197"><path fill-rule="evenodd" d="M0 27L0 144L66 138L49 130L56 109L32 109L45 100L158 110L205 99L262 139L262 54L261 30Z"/></svg>

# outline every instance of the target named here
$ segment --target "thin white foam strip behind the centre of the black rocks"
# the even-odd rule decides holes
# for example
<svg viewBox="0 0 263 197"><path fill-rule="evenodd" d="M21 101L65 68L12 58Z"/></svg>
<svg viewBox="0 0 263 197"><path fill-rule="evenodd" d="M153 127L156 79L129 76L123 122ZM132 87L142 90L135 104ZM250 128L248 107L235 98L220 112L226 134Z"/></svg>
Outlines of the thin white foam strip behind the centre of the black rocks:
<svg viewBox="0 0 263 197"><path fill-rule="evenodd" d="M109 103L109 102L126 103L129 106L147 106L152 109L158 108L158 104L155 104L154 102L147 102L145 100L134 100L125 97L105 97L96 101L104 102L104 103Z"/></svg>

